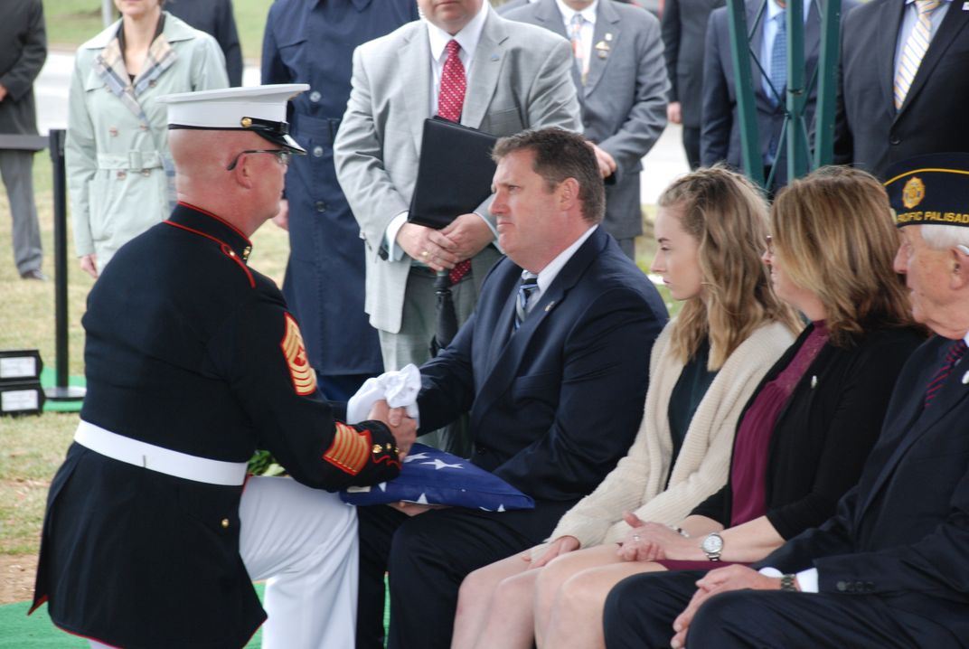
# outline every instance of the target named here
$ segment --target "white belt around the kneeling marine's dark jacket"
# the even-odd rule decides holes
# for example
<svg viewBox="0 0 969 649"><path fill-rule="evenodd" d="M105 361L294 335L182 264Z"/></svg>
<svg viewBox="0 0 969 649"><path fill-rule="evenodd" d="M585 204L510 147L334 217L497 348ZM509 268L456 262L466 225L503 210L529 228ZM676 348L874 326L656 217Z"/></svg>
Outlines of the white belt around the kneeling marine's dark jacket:
<svg viewBox="0 0 969 649"><path fill-rule="evenodd" d="M112 433L83 420L78 424L74 441L119 462L127 462L175 478L226 486L239 486L245 481L245 462L223 462L181 453L171 448L156 447Z"/></svg>

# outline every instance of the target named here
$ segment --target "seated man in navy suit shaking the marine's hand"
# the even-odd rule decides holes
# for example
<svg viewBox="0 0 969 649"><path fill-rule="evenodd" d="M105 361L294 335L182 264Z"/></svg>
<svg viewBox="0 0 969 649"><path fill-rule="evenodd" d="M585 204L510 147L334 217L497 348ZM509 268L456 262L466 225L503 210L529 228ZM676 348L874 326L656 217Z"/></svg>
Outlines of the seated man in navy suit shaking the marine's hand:
<svg viewBox="0 0 969 649"><path fill-rule="evenodd" d="M526 131L500 139L493 157L491 211L508 258L452 344L422 366L418 407L422 431L470 411L471 461L536 506L361 508L358 649L383 646L385 572L391 649L450 646L464 576L543 541L639 425L666 308L599 227L605 189L591 144Z"/></svg>

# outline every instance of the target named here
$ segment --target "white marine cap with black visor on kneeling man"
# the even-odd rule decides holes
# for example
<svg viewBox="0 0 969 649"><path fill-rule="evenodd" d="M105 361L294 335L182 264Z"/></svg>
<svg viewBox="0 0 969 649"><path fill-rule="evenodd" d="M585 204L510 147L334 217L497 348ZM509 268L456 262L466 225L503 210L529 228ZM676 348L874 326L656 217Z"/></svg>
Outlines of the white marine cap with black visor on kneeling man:
<svg viewBox="0 0 969 649"><path fill-rule="evenodd" d="M304 90L309 90L306 83L279 83L179 92L158 102L169 105L170 129L252 131L294 153L306 153L290 137L286 121L286 103Z"/></svg>

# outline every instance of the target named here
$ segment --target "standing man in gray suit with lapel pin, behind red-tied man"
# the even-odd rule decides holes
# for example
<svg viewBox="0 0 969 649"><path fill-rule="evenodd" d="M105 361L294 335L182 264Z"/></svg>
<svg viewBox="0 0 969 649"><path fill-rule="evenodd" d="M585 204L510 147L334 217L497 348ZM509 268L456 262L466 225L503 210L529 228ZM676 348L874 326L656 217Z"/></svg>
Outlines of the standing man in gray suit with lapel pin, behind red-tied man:
<svg viewBox="0 0 969 649"><path fill-rule="evenodd" d="M641 159L666 127L670 89L659 21L612 0L538 0L503 15L573 41L582 126L607 182L604 224L636 261Z"/></svg>

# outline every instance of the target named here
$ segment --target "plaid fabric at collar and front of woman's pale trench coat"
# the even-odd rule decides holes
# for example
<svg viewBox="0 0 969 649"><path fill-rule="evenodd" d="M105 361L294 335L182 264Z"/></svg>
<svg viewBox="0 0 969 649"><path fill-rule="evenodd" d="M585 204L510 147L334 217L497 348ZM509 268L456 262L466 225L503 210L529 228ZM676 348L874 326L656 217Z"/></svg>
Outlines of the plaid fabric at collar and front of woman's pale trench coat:
<svg viewBox="0 0 969 649"><path fill-rule="evenodd" d="M158 22L158 32L155 35L155 40L148 47L148 55L144 59L141 74L135 77L134 81L128 76L128 69L124 63L123 25L118 27L117 36L111 39L108 46L94 59L93 63L95 72L105 80L111 93L144 124L148 123L148 117L145 115L144 109L141 108L138 98L147 88L151 87L155 79L161 77L166 70L171 68L172 64L178 58L172 46L169 45L168 39L165 38L165 34L162 33L164 24L165 15L162 15L162 18ZM158 142L155 142L155 148L158 150L159 157L162 159L162 166L165 169L165 175L168 180L169 204L174 209L176 202L174 165L168 156L163 153L164 148L159 146Z"/></svg>

